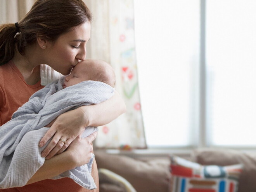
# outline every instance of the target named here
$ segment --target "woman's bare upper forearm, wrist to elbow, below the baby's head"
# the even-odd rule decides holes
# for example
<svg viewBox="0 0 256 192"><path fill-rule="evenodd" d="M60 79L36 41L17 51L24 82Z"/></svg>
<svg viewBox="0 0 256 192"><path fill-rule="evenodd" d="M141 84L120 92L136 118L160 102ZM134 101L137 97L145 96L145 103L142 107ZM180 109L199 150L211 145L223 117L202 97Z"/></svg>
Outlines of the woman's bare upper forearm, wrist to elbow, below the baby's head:
<svg viewBox="0 0 256 192"><path fill-rule="evenodd" d="M88 119L88 126L102 126L110 123L126 111L125 102L118 92L108 100L90 106L82 106Z"/></svg>

